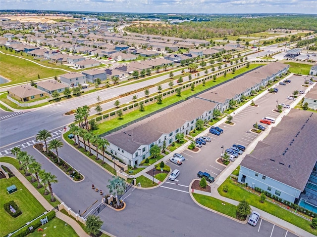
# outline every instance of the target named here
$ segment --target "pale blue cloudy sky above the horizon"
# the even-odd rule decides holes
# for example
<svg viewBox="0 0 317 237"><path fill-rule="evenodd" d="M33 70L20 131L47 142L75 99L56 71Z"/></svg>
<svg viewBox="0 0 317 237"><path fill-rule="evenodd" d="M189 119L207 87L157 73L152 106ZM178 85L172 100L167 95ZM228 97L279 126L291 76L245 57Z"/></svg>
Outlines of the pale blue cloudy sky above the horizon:
<svg viewBox="0 0 317 237"><path fill-rule="evenodd" d="M0 9L147 13L307 13L316 0L0 0Z"/></svg>

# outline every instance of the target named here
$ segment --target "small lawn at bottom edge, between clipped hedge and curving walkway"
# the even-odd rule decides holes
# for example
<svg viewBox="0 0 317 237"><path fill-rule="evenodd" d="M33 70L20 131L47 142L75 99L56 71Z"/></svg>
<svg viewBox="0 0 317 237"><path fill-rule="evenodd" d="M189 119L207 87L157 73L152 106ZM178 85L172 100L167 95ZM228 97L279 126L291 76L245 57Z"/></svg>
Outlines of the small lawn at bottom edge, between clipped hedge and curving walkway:
<svg viewBox="0 0 317 237"><path fill-rule="evenodd" d="M42 228L43 231L38 232L37 230L34 230L33 233L28 235L28 237L43 237L44 234L46 234L47 237L78 236L70 225L58 219L57 217L54 217L47 224L40 226L39 228Z"/></svg>

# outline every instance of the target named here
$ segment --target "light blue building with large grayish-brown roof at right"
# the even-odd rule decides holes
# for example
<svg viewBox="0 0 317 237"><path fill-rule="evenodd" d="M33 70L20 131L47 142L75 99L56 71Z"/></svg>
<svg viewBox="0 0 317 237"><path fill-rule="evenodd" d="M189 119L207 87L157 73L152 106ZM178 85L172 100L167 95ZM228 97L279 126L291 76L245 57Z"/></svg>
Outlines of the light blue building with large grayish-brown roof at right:
<svg viewBox="0 0 317 237"><path fill-rule="evenodd" d="M242 160L238 182L317 213L316 131L316 113L292 109Z"/></svg>

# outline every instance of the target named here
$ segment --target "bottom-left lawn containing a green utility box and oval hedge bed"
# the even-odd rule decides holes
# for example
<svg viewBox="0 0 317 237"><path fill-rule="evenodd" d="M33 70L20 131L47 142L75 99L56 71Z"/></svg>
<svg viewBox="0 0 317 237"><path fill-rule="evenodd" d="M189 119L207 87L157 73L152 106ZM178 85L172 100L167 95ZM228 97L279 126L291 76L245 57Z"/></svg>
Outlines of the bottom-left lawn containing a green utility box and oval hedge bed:
<svg viewBox="0 0 317 237"><path fill-rule="evenodd" d="M1 159L2 161L2 159ZM17 191L8 194L6 188L15 185ZM9 179L0 179L0 216L1 228L0 236L7 235L20 227L24 226L28 221L33 220L45 212L45 208L40 202L24 187L24 185L16 177ZM11 217L3 208L3 204L13 200L21 209L22 214L16 218Z"/></svg>

